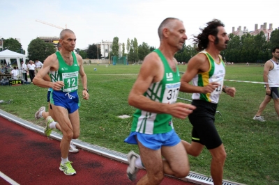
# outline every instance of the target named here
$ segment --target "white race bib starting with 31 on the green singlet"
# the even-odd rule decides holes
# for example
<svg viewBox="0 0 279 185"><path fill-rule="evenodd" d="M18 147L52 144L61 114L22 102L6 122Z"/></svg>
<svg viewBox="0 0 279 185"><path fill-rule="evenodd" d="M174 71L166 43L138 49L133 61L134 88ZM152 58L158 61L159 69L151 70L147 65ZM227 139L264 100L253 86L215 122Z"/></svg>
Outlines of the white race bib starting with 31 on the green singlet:
<svg viewBox="0 0 279 185"><path fill-rule="evenodd" d="M166 84L162 103L174 104L179 96L179 88L180 82Z"/></svg>

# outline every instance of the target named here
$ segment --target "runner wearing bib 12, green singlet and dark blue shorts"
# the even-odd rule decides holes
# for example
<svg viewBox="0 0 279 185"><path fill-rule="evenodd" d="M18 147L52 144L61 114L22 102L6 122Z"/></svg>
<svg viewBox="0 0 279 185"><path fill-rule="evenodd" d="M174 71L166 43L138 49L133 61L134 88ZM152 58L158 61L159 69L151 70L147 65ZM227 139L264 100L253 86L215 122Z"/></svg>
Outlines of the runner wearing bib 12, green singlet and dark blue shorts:
<svg viewBox="0 0 279 185"><path fill-rule="evenodd" d="M75 33L69 29L64 29L60 33L59 43L61 51L52 54L45 59L43 68L38 72L33 83L43 88L52 88L50 103L56 121L59 122L63 138L61 140L61 163L59 169L65 175L75 175L68 160L70 140L80 136L80 107L77 95L78 77L82 80L82 97L89 99L87 90L87 78L82 65L82 57L74 54ZM45 81L43 77L50 72L51 81Z"/></svg>

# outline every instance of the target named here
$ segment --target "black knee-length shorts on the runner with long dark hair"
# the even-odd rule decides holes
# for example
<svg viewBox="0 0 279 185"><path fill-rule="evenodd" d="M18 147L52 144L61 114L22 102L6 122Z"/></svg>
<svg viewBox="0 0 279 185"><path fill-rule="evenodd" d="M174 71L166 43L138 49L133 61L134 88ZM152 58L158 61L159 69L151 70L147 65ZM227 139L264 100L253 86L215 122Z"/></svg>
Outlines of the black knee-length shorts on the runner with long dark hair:
<svg viewBox="0 0 279 185"><path fill-rule="evenodd" d="M222 140L214 124L217 104L195 99L192 104L197 107L188 115L193 125L192 141L206 146L208 150L219 147Z"/></svg>

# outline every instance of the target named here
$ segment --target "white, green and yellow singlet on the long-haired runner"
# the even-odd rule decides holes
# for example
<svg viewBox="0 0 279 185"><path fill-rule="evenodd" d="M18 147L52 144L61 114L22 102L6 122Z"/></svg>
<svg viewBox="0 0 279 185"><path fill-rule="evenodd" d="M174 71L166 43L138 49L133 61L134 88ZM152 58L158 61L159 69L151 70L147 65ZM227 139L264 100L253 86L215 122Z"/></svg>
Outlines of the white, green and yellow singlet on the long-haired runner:
<svg viewBox="0 0 279 185"><path fill-rule="evenodd" d="M220 86L218 86L212 93L193 93L192 99L199 99L213 104L218 104L225 79L225 63L220 56L220 63L216 63L212 56L206 51L201 51L200 53L205 54L209 60L209 70L207 72L197 74L192 80L193 86L204 87L215 81L220 83Z"/></svg>

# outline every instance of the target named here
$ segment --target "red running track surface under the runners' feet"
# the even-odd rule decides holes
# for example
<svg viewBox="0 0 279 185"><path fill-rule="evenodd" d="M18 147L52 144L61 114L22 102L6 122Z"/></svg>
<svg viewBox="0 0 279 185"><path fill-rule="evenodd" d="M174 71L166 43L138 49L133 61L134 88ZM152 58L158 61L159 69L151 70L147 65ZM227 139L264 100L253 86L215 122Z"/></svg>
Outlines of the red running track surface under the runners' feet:
<svg viewBox="0 0 279 185"><path fill-rule="evenodd" d="M0 117L0 171L18 184L136 184L126 177L126 163L84 150L68 156L77 175L64 175L59 143ZM145 174L140 170L137 180ZM0 177L0 184L9 183ZM161 184L191 183L165 177Z"/></svg>

